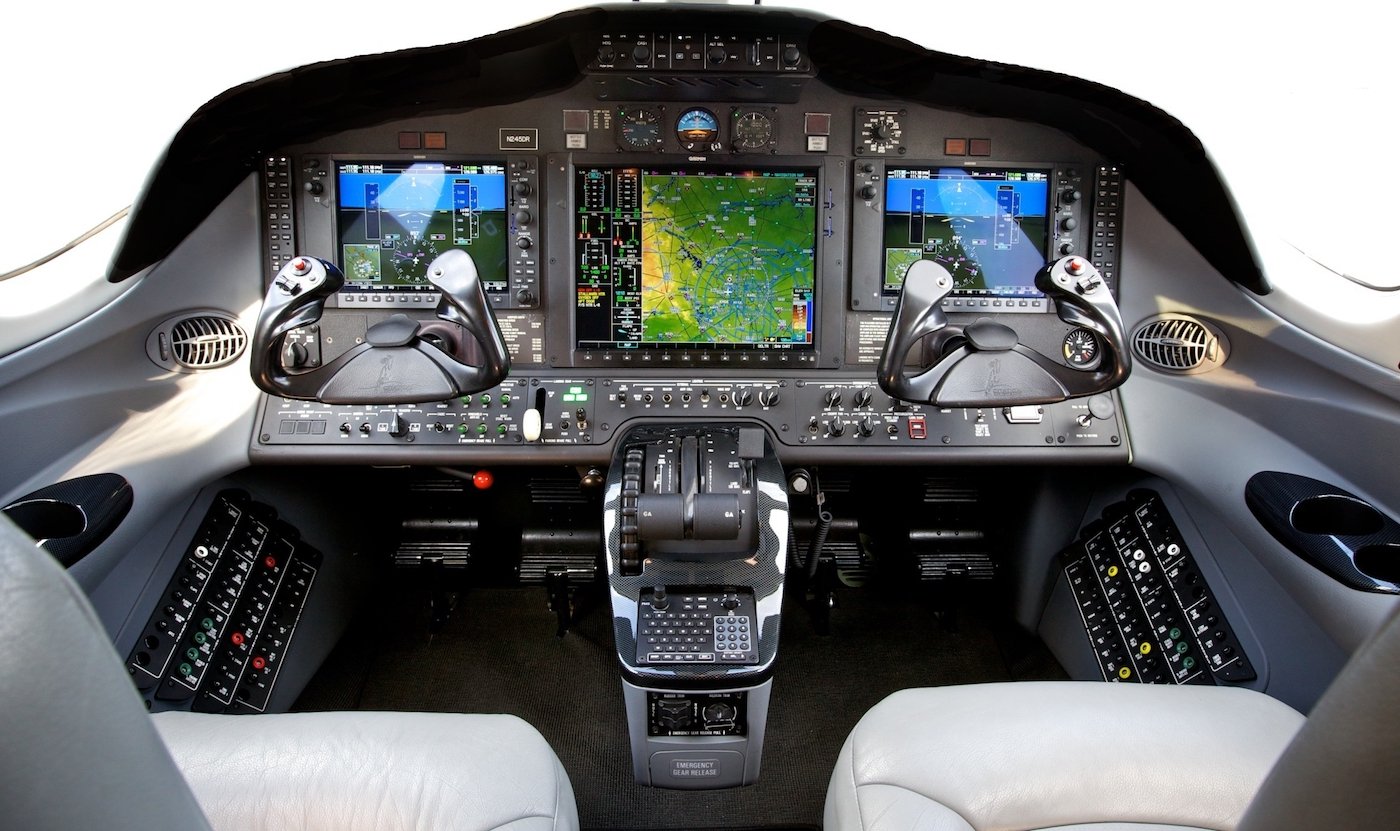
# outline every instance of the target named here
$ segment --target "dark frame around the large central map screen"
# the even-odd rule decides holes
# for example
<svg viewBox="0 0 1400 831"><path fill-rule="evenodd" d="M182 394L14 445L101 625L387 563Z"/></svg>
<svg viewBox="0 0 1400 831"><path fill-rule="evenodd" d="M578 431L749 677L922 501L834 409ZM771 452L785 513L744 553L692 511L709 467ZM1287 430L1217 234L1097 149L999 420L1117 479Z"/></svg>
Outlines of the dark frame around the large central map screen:
<svg viewBox="0 0 1400 831"><path fill-rule="evenodd" d="M832 301L832 298L823 297L823 278L822 274L826 269L825 263L825 234L823 227L830 224L830 210L833 207L829 194L826 193L825 180L825 164L816 159L764 159L763 164L753 164L753 161L725 161L706 164L703 161L696 161L693 157L690 159L680 159L675 157L648 157L645 159L629 159L627 162L619 162L616 157L580 157L573 158L573 164L567 166L567 171L561 171L564 175L559 185L567 187L568 192L568 217L567 217L567 234L568 234L568 250L570 250L570 269L568 269L568 284L567 284L567 302L568 302L568 318L570 318L570 350L575 355L577 364L673 364L673 362L700 362L700 364L748 364L748 362L777 362L777 364L815 364L816 355L820 350L820 343L823 337L823 329L829 327L829 322L825 320L827 306L839 308L840 304ZM553 165L552 165L552 169ZM808 325L811 330L811 339L806 343L801 341L781 341L781 343L713 343L713 344L699 344L699 343L680 343L680 344L666 344L666 343L644 343L637 341L636 344L617 346L617 341L589 341L584 340L580 333L580 306L578 306L578 290L581 287L580 276L580 249L577 248L577 225L580 214L582 213L582 196L580 194L580 176L589 169L606 169L606 171L657 171L661 173L696 173L696 175L715 175L715 176L731 176L735 173L759 173L759 175L806 175L813 179L813 217L812 217L812 284L811 284L811 299L808 311ZM823 196L825 194L825 196ZM823 217L826 217L826 225L823 225Z"/></svg>

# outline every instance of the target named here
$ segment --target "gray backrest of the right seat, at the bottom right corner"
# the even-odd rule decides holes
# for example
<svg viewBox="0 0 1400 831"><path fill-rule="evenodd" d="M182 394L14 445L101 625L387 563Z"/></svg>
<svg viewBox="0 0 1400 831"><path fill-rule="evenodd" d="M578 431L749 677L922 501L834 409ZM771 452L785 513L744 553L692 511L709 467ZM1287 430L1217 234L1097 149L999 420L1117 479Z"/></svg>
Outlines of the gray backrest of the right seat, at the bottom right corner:
<svg viewBox="0 0 1400 831"><path fill-rule="evenodd" d="M1308 715L1240 831L1400 824L1400 604Z"/></svg>

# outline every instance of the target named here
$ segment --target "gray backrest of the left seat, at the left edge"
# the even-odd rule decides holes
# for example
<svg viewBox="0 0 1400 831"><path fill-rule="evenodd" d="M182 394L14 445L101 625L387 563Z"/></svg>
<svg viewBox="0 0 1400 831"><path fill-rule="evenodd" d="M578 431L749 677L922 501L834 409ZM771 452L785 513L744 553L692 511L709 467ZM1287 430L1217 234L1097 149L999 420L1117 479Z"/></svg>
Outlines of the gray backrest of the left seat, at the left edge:
<svg viewBox="0 0 1400 831"><path fill-rule="evenodd" d="M87 597L0 516L0 820L207 828Z"/></svg>

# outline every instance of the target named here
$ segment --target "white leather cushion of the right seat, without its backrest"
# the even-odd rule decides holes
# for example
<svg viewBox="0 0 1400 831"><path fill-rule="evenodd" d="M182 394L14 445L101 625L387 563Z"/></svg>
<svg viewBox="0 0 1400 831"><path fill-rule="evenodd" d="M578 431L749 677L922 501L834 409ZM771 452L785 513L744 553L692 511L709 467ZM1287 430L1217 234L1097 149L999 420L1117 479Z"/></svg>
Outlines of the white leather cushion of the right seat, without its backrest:
<svg viewBox="0 0 1400 831"><path fill-rule="evenodd" d="M904 690L851 730L826 831L1235 827L1303 723L1250 690L1025 681ZM1110 823L1110 825L1103 825Z"/></svg>

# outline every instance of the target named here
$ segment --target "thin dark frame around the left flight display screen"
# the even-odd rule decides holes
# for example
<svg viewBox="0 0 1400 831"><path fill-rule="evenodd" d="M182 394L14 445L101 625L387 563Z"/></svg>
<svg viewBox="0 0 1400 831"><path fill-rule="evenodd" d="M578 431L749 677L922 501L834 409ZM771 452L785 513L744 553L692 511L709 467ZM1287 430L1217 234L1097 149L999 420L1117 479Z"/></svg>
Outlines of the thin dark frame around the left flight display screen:
<svg viewBox="0 0 1400 831"><path fill-rule="evenodd" d="M342 295L368 295L384 297L384 295L406 295L406 299L424 299L431 301L437 295L437 288L430 283L423 284L405 284L405 283L391 283L382 285L364 284L353 280L351 269L347 267L346 262L346 246L350 245L346 241L346 220L344 220L344 194L342 192L342 175L346 173L344 168L347 165L392 165L392 166L414 166L414 165L454 165L454 166L493 166L497 171L491 171L489 175L500 176L500 201L501 207L498 211L500 221L500 243L494 246L494 252L498 253L498 260L483 262L482 257L473 257L479 274L482 277L483 288L487 291L504 291L508 285L508 274L511 267L511 241L514 236L511 228L511 166L510 159L497 155L431 155L431 157L393 157L389 154L375 154L375 155L337 155L329 159L329 173L330 187L326 196L326 201L332 208L332 234L335 238L335 256L336 264L342 269L346 276L346 284L340 288ZM406 171L399 171L398 173L386 175L402 175ZM445 173L451 175L451 173ZM444 250L451 248L459 248L456 245L447 245ZM470 253L470 249L466 248ZM441 253L441 252L437 252ZM427 262L423 263L427 266Z"/></svg>

